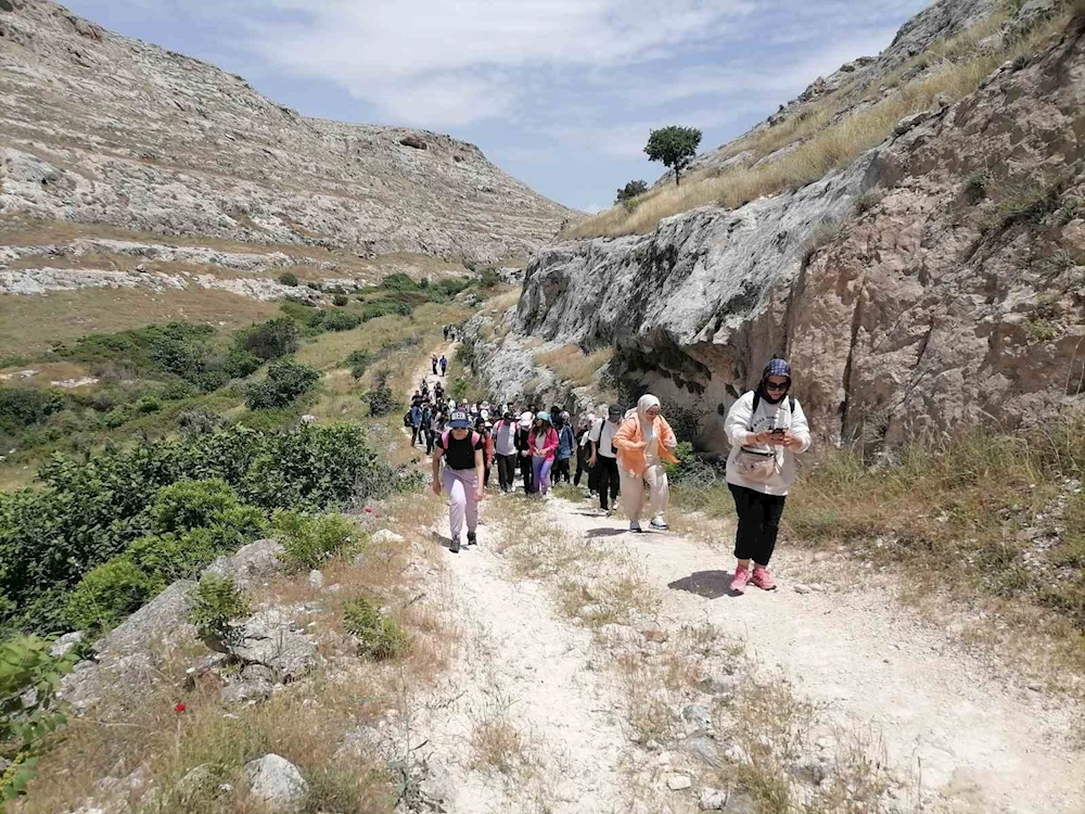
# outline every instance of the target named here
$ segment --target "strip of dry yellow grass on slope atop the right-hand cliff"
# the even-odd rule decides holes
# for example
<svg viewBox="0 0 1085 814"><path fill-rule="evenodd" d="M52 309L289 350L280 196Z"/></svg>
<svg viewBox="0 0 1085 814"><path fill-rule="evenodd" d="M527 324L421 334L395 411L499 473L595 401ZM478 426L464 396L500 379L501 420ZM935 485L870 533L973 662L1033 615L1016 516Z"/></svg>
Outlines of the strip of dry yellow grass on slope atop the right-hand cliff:
<svg viewBox="0 0 1085 814"><path fill-rule="evenodd" d="M809 105L801 115L740 139L728 149L732 154L752 150L763 157L788 144L799 144L797 149L778 160L757 168L694 174L680 187L664 185L637 198L635 208L614 206L580 221L565 237L643 234L652 231L663 218L699 206L736 208L765 195L806 186L884 141L897 122L930 109L939 94L956 101L974 92L994 68L1007 60L1034 52L1062 30L1068 20L1069 12L1039 26L1023 40L1010 42L993 52L983 52L975 47L981 35L985 36L986 27L940 43L937 52L927 56L939 62L932 71L901 86L872 107L833 122L841 110L854 103L851 101L854 89L845 89L848 92L842 90L825 102ZM890 77L886 84L892 86L893 81ZM864 92L873 93L877 89L864 89ZM854 101L863 101L861 96Z"/></svg>

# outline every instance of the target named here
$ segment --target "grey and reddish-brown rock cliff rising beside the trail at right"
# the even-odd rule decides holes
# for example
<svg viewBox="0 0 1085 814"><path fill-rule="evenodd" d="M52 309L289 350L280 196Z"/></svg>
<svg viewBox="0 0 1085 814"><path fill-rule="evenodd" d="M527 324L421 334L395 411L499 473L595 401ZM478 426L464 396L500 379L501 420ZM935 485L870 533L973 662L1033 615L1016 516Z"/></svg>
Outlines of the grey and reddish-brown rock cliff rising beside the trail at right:
<svg viewBox="0 0 1085 814"><path fill-rule="evenodd" d="M641 386L703 414L709 447L776 353L834 440L1047 420L1085 389L1081 31L817 183L540 251L515 331L613 343Z"/></svg>

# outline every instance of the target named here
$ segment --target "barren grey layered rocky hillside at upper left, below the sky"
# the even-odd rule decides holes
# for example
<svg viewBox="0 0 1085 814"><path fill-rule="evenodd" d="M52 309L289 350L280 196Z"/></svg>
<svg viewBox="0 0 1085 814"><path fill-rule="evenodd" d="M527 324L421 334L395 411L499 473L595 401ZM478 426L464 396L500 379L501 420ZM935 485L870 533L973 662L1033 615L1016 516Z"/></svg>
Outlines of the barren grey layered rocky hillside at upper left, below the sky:
<svg viewBox="0 0 1085 814"><path fill-rule="evenodd" d="M447 136L305 118L48 0L0 0L0 214L490 263L567 209Z"/></svg>

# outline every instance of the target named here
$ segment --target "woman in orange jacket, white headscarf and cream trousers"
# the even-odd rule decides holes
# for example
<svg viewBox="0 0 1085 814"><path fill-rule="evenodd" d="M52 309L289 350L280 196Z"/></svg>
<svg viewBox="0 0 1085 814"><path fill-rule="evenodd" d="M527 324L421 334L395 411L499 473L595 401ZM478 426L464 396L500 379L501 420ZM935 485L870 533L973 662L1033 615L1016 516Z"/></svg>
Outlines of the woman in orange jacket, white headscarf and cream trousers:
<svg viewBox="0 0 1085 814"><path fill-rule="evenodd" d="M622 472L622 506L629 516L630 532L641 531L646 486L652 513L649 525L656 531L667 530L664 513L669 499L669 484L663 462L678 462L672 451L677 446L678 438L663 418L660 399L653 395L641 396L637 409L629 411L614 433L614 447Z"/></svg>

